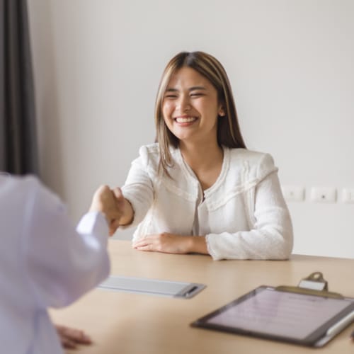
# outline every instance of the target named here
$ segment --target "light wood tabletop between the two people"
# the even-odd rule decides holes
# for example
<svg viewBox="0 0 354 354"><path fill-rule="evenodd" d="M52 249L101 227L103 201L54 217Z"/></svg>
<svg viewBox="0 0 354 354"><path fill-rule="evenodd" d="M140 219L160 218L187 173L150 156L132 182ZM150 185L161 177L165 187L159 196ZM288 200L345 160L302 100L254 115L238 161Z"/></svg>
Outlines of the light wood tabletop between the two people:
<svg viewBox="0 0 354 354"><path fill-rule="evenodd" d="M137 251L130 241L118 240L109 241L109 252L111 275L207 287L191 299L95 289L70 307L50 311L56 324L84 329L93 338L93 345L67 353L354 353L353 324L321 349L190 327L259 285L297 285L314 271L324 274L330 291L354 297L354 259L292 255L290 261L212 261L196 254Z"/></svg>

